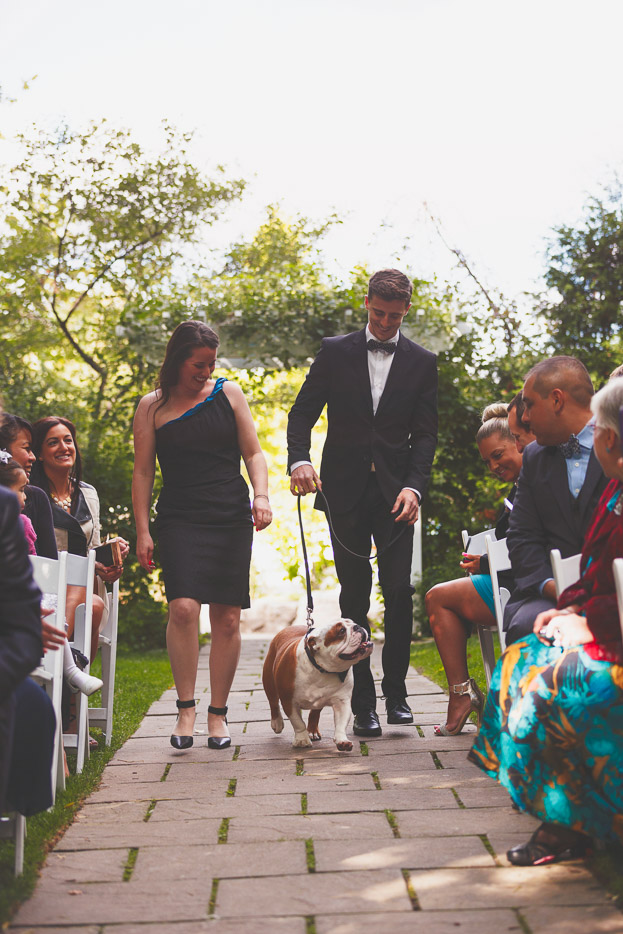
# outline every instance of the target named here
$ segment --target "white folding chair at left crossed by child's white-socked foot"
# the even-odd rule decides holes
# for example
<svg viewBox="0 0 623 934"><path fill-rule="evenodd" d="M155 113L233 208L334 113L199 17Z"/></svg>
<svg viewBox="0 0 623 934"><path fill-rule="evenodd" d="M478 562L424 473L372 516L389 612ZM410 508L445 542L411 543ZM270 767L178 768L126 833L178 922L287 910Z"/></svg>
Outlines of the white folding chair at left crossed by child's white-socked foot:
<svg viewBox="0 0 623 934"><path fill-rule="evenodd" d="M80 555L67 555L67 584L84 587L85 602L81 603L74 617L74 634L71 645L91 657L91 626L93 620L93 582L95 580L95 551L90 551L86 558ZM88 671L89 665L86 670ZM86 759L89 758L89 699L81 691L76 695L76 732L63 733L65 749L76 750L76 773L80 774Z"/></svg>

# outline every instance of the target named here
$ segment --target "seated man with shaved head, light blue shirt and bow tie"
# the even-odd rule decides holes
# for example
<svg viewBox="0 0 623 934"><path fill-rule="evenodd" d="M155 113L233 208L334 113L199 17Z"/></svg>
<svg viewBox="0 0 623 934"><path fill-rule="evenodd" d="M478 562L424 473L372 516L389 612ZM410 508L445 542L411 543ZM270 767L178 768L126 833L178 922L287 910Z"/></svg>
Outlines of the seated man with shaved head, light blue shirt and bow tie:
<svg viewBox="0 0 623 934"><path fill-rule="evenodd" d="M588 371L574 357L542 360L526 377L522 421L536 441L524 450L506 539L517 585L504 611L507 645L556 605L550 551L566 558L582 550L606 486L593 452L592 395Z"/></svg>

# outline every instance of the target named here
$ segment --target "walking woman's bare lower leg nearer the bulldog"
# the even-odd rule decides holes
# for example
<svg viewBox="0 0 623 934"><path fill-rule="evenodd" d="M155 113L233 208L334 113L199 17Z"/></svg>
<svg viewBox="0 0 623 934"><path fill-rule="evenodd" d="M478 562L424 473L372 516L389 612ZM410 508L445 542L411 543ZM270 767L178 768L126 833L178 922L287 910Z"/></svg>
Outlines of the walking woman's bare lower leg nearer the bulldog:
<svg viewBox="0 0 623 934"><path fill-rule="evenodd" d="M240 658L240 607L210 604L210 704L226 707ZM225 718L208 714L210 736L229 736Z"/></svg>

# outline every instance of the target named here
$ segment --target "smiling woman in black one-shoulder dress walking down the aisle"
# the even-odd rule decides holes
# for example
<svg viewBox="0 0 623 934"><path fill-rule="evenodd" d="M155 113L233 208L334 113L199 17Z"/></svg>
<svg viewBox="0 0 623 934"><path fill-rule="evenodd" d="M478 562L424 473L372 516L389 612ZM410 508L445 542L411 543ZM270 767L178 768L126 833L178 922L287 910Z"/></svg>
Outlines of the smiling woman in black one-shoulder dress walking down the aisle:
<svg viewBox="0 0 623 934"><path fill-rule="evenodd" d="M134 419L132 501L136 552L151 570L149 529L156 456L163 477L155 523L169 603L167 649L177 689L171 745L192 746L202 603L210 604L211 703L208 745L229 746L227 697L240 656L240 610L249 602L253 524L272 520L268 470L249 406L239 386L212 379L218 336L200 321L173 332L158 386L141 399ZM240 457L253 484L249 503Z"/></svg>

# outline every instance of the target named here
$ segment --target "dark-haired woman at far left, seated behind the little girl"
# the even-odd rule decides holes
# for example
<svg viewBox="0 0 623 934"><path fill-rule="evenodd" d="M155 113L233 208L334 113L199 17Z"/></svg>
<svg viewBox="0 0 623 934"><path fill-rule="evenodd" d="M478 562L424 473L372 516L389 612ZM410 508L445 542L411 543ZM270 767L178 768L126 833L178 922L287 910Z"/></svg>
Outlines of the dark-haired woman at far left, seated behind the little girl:
<svg viewBox="0 0 623 934"><path fill-rule="evenodd" d="M19 415L0 415L0 450L7 451L30 477L35 461L32 451L32 426ZM39 487L26 487L23 515L32 522L37 536L37 554L44 558L58 557L50 500Z"/></svg>

